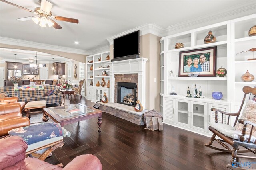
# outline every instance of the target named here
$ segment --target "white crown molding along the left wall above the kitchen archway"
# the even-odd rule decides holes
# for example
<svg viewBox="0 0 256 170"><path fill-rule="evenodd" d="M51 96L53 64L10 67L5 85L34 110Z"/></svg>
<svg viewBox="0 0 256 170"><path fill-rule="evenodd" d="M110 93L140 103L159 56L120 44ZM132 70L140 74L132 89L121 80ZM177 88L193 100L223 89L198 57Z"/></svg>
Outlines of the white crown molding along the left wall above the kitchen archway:
<svg viewBox="0 0 256 170"><path fill-rule="evenodd" d="M26 41L22 39L13 39L8 37L0 37L1 44L8 44L8 45L17 45L23 47L30 47L30 48L37 48L37 49L45 49L45 50L52 50L52 51L61 51L66 53L75 53L75 54L83 54L86 55L89 52L80 49L73 49L68 47L61 47L57 45L50 45L44 43L37 43L33 41Z"/></svg>

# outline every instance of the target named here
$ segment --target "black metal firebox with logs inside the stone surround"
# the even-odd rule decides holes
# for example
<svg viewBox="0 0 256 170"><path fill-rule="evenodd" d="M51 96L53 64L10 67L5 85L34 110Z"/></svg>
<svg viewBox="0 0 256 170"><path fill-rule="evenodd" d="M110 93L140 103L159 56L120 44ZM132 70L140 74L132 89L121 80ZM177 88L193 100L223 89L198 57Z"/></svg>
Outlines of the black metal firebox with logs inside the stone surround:
<svg viewBox="0 0 256 170"><path fill-rule="evenodd" d="M137 101L137 84L117 82L117 102L129 106L135 106Z"/></svg>

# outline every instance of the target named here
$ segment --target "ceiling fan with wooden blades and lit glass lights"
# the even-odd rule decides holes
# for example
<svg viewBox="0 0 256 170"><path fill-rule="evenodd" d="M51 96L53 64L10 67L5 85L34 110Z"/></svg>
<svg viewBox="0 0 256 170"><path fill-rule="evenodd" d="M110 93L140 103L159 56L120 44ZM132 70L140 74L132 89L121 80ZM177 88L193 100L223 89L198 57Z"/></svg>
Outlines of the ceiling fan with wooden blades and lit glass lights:
<svg viewBox="0 0 256 170"><path fill-rule="evenodd" d="M39 25L41 27L46 27L46 24L47 24L49 27L53 26L55 29L61 29L62 27L60 25L58 25L58 23L56 23L54 20L78 23L78 19L52 15L52 12L51 12L52 3L48 2L47 0L39 0L39 4L41 4L41 6L36 7L34 11L29 10L28 8L24 8L22 6L13 4L12 2L8 2L6 0L0 0L0 1L10 4L10 5L13 5L13 6L16 6L23 10L27 10L28 12L38 15L38 16L29 16L29 17L24 17L24 18L18 18L17 20L20 20L20 21L33 20L34 23L36 23L36 24L38 24L40 22Z"/></svg>

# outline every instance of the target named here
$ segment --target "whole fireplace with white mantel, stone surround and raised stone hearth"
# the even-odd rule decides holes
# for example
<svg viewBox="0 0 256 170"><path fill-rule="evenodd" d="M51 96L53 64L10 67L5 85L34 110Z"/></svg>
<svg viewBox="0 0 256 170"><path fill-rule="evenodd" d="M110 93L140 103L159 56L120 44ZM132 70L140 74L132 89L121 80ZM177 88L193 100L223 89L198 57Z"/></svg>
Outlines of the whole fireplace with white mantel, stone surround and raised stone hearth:
<svg viewBox="0 0 256 170"><path fill-rule="evenodd" d="M148 110L136 112L133 101L140 100L142 106L145 106L147 60L138 58L108 63L110 65L110 96L108 103L100 102L100 110L137 125L145 124L143 114Z"/></svg>

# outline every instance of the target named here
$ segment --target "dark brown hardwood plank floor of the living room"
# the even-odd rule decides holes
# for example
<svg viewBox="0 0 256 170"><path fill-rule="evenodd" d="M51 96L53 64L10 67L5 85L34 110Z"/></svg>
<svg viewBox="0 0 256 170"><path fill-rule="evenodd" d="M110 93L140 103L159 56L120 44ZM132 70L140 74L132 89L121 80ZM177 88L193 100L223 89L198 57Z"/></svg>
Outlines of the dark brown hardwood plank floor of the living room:
<svg viewBox="0 0 256 170"><path fill-rule="evenodd" d="M84 97L80 100L79 96L75 103L94 105ZM65 104L73 102L66 98ZM32 115L31 122L38 121L42 121L42 114ZM71 132L71 137L65 137L64 146L45 161L65 166L78 155L93 154L99 158L104 170L228 169L226 164L230 163L231 154L205 147L209 137L165 124L163 131L149 131L144 129L145 126L107 113L102 115L102 132L98 133L97 121L93 118L64 126ZM214 146L221 147L216 141Z"/></svg>

